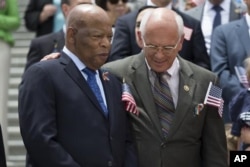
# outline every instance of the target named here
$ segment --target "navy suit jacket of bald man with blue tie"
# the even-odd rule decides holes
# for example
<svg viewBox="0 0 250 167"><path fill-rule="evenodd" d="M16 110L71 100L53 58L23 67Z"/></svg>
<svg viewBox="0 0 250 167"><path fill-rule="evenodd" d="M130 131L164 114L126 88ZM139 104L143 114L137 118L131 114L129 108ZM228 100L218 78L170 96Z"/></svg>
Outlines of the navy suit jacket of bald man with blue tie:
<svg viewBox="0 0 250 167"><path fill-rule="evenodd" d="M29 165L136 167L121 83L111 74L108 77L105 81L100 77L109 111L106 118L65 53L24 73L18 109Z"/></svg>

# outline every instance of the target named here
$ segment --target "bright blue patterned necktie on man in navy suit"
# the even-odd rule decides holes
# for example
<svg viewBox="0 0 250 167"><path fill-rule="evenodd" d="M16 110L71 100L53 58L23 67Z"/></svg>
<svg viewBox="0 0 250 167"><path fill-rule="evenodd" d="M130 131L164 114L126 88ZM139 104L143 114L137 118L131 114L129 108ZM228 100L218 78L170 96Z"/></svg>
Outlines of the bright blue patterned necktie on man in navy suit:
<svg viewBox="0 0 250 167"><path fill-rule="evenodd" d="M105 103L103 101L100 88L99 88L99 86L98 86L98 84L96 82L96 78L95 78L96 72L89 69L89 68L87 68L87 67L84 68L82 71L88 76L87 82L88 82L90 88L92 89L93 93L95 94L99 104L101 105L105 116L107 117L108 116L108 110L107 110L107 107L105 106Z"/></svg>

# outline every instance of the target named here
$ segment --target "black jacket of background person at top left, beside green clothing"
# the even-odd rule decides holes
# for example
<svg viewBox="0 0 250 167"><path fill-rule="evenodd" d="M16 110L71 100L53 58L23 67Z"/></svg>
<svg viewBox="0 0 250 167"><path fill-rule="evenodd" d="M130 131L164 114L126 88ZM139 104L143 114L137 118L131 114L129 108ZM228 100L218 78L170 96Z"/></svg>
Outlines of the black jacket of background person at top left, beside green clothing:
<svg viewBox="0 0 250 167"><path fill-rule="evenodd" d="M30 0L24 13L26 28L35 31L37 37L51 33L53 30L53 17L43 23L39 22L40 13L46 4L53 4L53 0Z"/></svg>

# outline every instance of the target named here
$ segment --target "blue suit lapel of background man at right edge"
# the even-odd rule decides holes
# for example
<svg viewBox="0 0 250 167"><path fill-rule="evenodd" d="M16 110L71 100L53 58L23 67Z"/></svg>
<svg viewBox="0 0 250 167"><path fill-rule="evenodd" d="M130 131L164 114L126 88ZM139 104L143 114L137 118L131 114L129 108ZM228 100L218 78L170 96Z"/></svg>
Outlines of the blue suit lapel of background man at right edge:
<svg viewBox="0 0 250 167"><path fill-rule="evenodd" d="M250 55L250 47L249 47L250 37L245 17L241 19L239 24L236 26L235 31L238 34L241 44L245 48L247 55Z"/></svg>

